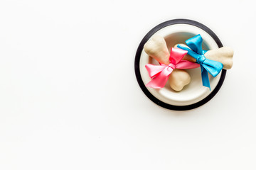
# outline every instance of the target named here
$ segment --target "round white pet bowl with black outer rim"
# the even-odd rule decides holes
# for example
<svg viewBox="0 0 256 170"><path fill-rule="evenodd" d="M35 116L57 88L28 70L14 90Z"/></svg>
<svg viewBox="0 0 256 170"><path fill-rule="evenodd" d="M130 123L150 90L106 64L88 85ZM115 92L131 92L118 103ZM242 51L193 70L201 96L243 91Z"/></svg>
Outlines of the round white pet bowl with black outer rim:
<svg viewBox="0 0 256 170"><path fill-rule="evenodd" d="M169 86L169 83L166 83L166 86L162 89L152 89L145 86L151 80L145 65L148 63L158 64L156 60L147 55L143 50L144 44L148 40L154 35L161 35L166 40L168 49L171 50L171 47L174 47L174 45L178 43L186 44L185 41L188 38L192 38L198 34L201 34L203 38L203 50L213 50L223 47L217 35L210 28L187 19L175 19L161 23L152 28L144 36L142 42L140 42L134 62L135 74L144 94L157 105L171 110L186 111L202 106L218 93L225 79L225 69L222 69L217 77L212 77L208 74L210 89L202 85L200 67L186 69L191 76L191 83L184 86L182 91L174 91Z"/></svg>

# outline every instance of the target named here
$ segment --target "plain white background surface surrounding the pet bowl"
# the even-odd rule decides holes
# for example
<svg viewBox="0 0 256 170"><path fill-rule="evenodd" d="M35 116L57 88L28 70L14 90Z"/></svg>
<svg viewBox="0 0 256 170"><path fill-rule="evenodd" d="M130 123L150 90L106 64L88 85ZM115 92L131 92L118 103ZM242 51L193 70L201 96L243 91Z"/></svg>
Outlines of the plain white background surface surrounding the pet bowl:
<svg viewBox="0 0 256 170"><path fill-rule="evenodd" d="M254 1L0 1L0 169L256 169ZM235 50L218 94L170 111L137 84L151 28L188 18Z"/></svg>

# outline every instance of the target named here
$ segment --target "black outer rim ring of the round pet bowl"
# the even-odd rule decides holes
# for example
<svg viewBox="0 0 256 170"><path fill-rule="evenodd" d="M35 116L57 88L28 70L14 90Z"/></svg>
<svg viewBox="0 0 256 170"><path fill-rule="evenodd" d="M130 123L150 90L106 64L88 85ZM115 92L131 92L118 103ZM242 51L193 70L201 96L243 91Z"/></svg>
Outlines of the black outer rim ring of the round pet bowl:
<svg viewBox="0 0 256 170"><path fill-rule="evenodd" d="M223 84L223 81L225 79L225 75L226 75L227 71L225 69L222 70L221 75L220 75L220 80L218 81L218 84L215 87L215 89L206 98L203 98L203 100L198 101L197 103L193 103L191 105L186 105L186 106L174 106L174 105L170 105L168 103L164 103L163 101L160 101L158 98L153 96L146 89L146 86L144 85L144 83L142 81L142 76L141 76L141 74L139 72L140 56L142 54L142 50L143 50L144 44L147 42L147 40L149 40L149 38L151 38L152 35L154 35L154 33L156 33L156 31L158 31L161 28L164 28L166 26L171 26L171 25L174 25L174 24L189 24L189 25L201 28L201 29L205 30L215 40L215 42L217 43L218 47L223 47L223 44L220 42L220 39L217 37L217 35L215 35L215 33L213 33L213 31L210 30L210 28L204 26L202 23L198 23L197 21L188 20L188 19L174 19L174 20L166 21L164 23L160 23L158 26L152 28L149 31L149 33L147 33L144 36L142 41L139 43L139 47L138 47L137 52L136 52L135 61L134 61L134 69L135 69L136 78L137 78L137 81L139 83L140 88L142 89L144 94L146 94L146 96L151 101L153 101L154 103L156 103L157 105L159 105L159 106L161 106L163 108L168 108L168 109L171 109L171 110L174 110L174 111L187 111L187 110L191 110L193 108L198 108L199 106L202 106L203 104L205 104L208 101L210 101L210 99L213 98L215 96L215 94L217 94L218 91L220 90L220 87Z"/></svg>

